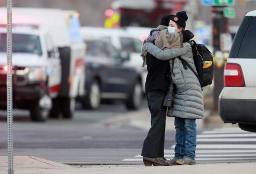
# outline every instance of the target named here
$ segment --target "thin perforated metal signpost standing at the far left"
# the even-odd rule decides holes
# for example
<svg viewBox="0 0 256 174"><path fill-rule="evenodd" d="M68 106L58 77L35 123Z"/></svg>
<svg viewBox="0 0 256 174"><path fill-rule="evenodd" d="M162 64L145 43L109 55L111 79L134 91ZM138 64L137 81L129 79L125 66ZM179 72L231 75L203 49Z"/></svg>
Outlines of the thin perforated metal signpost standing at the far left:
<svg viewBox="0 0 256 174"><path fill-rule="evenodd" d="M7 127L8 127L8 174L13 170L12 141L12 0L7 0Z"/></svg>

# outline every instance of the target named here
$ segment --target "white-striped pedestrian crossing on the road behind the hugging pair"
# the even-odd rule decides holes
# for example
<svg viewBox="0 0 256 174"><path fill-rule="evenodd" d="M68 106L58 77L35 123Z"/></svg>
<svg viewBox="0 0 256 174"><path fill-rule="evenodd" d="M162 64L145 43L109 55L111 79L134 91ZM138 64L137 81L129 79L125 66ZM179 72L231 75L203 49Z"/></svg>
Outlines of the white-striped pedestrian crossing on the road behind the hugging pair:
<svg viewBox="0 0 256 174"><path fill-rule="evenodd" d="M174 157L174 147L164 151L167 158ZM140 154L123 162L142 162ZM197 135L196 162L256 162L256 133L239 127L212 129Z"/></svg>

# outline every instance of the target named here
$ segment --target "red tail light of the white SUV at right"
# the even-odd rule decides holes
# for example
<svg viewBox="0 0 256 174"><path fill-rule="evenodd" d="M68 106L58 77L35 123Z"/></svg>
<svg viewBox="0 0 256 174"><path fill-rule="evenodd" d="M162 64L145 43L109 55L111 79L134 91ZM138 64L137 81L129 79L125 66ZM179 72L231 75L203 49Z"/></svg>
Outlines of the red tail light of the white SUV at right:
<svg viewBox="0 0 256 174"><path fill-rule="evenodd" d="M224 86L245 86L242 68L237 63L227 63L224 68Z"/></svg>

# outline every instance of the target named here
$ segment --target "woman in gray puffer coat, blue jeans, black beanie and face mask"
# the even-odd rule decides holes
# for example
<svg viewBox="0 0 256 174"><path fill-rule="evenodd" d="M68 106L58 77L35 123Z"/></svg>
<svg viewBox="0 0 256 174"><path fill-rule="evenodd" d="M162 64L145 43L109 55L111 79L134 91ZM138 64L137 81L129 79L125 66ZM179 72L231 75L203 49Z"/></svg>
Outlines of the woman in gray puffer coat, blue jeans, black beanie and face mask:
<svg viewBox="0 0 256 174"><path fill-rule="evenodd" d="M180 32L185 28L187 19L186 12L178 12L171 18L169 26L173 27L175 32ZM170 59L171 70L174 61L171 76L177 88L172 111L172 115L175 117L176 146L175 156L169 162L171 165L196 164L196 119L204 119L202 90L198 78L192 70L189 68L185 70L182 62L177 58L180 56L196 71L192 47L189 43L184 43L183 47L164 50L153 43L146 43L143 47L160 60Z"/></svg>

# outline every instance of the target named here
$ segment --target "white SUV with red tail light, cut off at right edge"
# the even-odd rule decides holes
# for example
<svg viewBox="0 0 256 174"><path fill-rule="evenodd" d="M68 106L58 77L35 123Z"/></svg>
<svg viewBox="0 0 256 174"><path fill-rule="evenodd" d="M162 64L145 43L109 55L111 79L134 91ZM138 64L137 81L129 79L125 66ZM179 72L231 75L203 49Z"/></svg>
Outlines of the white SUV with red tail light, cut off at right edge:
<svg viewBox="0 0 256 174"><path fill-rule="evenodd" d="M218 110L225 123L256 132L256 10L248 12L236 33L224 68Z"/></svg>

